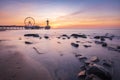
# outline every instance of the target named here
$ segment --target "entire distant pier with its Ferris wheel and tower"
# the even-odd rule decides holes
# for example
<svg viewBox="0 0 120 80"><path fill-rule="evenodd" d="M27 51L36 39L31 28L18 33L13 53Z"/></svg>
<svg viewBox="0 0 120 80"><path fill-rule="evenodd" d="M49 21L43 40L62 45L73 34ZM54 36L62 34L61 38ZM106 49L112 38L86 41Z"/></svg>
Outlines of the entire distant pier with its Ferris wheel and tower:
<svg viewBox="0 0 120 80"><path fill-rule="evenodd" d="M26 17L24 20L25 26L16 26L16 25L10 25L0 26L0 30L22 30L22 29L50 29L49 20L46 21L46 26L36 26L35 25L35 19L32 17Z"/></svg>

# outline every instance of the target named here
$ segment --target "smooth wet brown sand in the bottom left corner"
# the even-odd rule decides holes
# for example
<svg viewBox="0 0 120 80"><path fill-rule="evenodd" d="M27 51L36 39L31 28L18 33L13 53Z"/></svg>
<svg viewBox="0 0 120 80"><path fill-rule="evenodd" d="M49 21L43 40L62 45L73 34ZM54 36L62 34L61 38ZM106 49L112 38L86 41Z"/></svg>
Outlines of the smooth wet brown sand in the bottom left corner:
<svg viewBox="0 0 120 80"><path fill-rule="evenodd" d="M53 80L42 64L25 53L0 46L0 80Z"/></svg>

